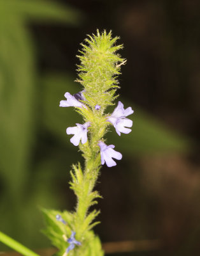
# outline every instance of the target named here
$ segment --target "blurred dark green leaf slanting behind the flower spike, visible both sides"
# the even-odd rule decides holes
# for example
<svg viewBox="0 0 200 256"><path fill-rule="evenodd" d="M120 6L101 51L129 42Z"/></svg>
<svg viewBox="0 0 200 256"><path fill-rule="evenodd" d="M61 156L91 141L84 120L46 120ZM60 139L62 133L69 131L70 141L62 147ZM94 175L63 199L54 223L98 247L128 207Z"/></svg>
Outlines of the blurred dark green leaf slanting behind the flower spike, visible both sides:
<svg viewBox="0 0 200 256"><path fill-rule="evenodd" d="M73 108L59 108L59 100L64 99L64 93L71 94L82 90L75 78L63 75L46 75L43 77L43 122L46 129L54 133L66 147L73 147L69 143L69 136L66 135L66 127L80 122ZM125 108L133 106L131 102L122 100ZM115 107L113 107L114 109ZM110 111L113 111L110 109ZM117 150L126 154L146 154L152 152L182 152L189 150L190 142L176 132L170 131L155 118L150 117L138 107L133 108L135 113L129 116L134 120L132 132L118 136L114 128L108 132L108 143L115 144Z"/></svg>

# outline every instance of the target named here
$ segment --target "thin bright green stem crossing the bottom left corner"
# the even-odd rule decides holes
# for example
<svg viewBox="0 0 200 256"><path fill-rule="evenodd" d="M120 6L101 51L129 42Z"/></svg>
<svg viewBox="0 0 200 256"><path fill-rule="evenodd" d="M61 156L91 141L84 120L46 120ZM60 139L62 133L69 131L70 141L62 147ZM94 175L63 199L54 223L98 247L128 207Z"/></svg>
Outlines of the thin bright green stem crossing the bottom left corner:
<svg viewBox="0 0 200 256"><path fill-rule="evenodd" d="M11 237L6 236L1 231L0 231L0 241L2 243L6 244L7 246L9 246L10 248L12 248L13 250L21 253L24 256L39 256L37 253L32 252L27 247L18 243L17 241L12 239Z"/></svg>

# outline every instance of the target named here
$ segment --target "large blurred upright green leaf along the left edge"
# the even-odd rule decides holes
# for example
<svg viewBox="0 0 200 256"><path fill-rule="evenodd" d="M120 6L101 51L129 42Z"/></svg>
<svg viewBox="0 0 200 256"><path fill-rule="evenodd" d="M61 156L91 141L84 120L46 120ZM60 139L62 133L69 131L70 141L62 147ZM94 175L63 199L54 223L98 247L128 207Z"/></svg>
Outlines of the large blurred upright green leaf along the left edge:
<svg viewBox="0 0 200 256"><path fill-rule="evenodd" d="M6 23L6 26L5 26ZM32 141L34 58L20 20L0 25L0 170L13 195L21 191ZM15 192L14 192L15 191Z"/></svg>

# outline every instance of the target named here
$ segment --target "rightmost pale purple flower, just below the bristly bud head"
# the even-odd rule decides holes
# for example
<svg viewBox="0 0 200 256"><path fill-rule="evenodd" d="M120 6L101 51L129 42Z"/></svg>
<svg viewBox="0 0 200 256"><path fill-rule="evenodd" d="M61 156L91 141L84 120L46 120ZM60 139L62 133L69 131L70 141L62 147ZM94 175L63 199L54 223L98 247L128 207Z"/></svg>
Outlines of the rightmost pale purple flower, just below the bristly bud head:
<svg viewBox="0 0 200 256"><path fill-rule="evenodd" d="M118 102L117 108L113 111L111 116L108 116L108 122L113 124L117 134L120 136L120 132L128 134L131 132L131 129L126 127L132 127L132 120L125 118L125 116L129 116L133 113L131 107L124 109L124 104L122 102Z"/></svg>

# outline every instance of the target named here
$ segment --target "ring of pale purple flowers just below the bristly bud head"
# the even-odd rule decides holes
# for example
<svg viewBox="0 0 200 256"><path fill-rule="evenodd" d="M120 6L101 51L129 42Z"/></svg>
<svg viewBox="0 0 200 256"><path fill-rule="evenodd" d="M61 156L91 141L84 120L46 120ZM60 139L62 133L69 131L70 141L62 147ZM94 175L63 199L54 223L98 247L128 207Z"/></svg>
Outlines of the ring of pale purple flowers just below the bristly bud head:
<svg viewBox="0 0 200 256"><path fill-rule="evenodd" d="M67 100L61 100L60 107L73 106L75 108L87 109L87 106L82 103L82 101L86 100L83 92L84 91L78 92L75 95L71 95L69 92L66 92L64 96ZM100 110L101 106L96 105L95 109ZM124 134L131 132L131 129L129 128L132 127L132 120L126 118L126 116L131 115L133 112L134 111L131 107L124 109L124 104L118 101L117 108L115 108L110 116L105 116L105 118L107 122L110 122L115 127L117 134L120 136L121 132ZM82 144L87 142L87 132L90 127L90 123L91 122L86 122L85 124L76 124L75 127L68 127L66 130L67 134L74 134L70 140L73 145L78 146L80 141L82 141ZM116 165L113 158L117 160L122 159L122 154L113 149L115 148L114 145L106 145L103 141L99 141L98 145L101 153L101 164L106 163L108 167L111 167Z"/></svg>

